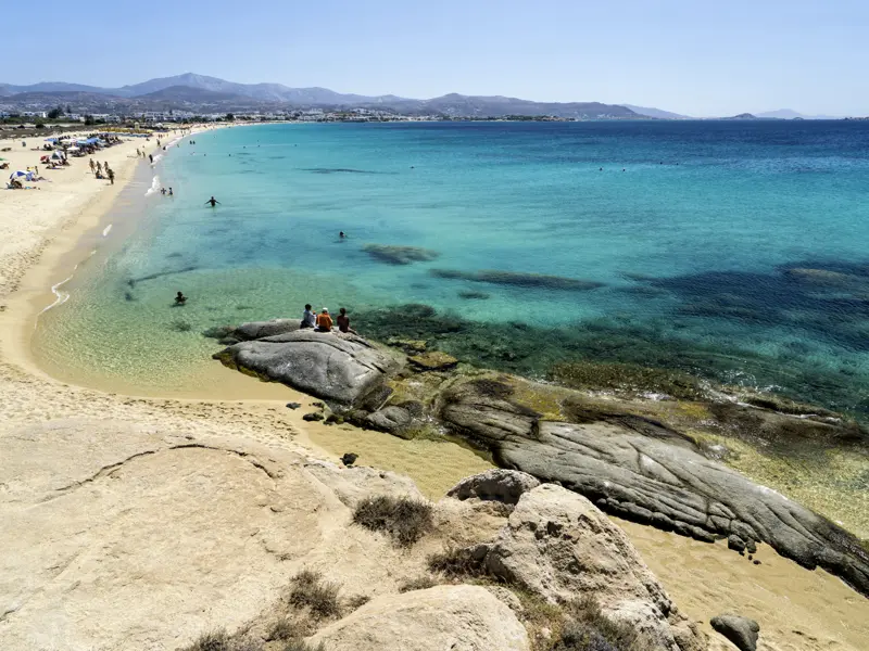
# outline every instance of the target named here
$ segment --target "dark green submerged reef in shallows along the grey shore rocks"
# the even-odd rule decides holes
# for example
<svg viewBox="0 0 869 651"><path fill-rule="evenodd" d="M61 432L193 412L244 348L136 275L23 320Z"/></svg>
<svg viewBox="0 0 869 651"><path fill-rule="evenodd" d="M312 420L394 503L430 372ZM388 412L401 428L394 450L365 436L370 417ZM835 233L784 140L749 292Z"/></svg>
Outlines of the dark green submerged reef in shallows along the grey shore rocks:
<svg viewBox="0 0 869 651"><path fill-rule="evenodd" d="M471 321L418 304L361 310L354 319L366 336L426 341L461 361L527 378L567 381L571 375L570 383L581 386L599 373L614 388L684 397L698 391L697 379L776 387L793 400L869 420L869 376L859 369L822 367L799 354L782 359L741 347L739 341L727 347L698 343L693 335L679 336L672 322L599 318L547 328ZM595 365L609 366L595 370Z"/></svg>

